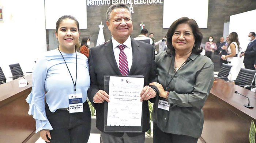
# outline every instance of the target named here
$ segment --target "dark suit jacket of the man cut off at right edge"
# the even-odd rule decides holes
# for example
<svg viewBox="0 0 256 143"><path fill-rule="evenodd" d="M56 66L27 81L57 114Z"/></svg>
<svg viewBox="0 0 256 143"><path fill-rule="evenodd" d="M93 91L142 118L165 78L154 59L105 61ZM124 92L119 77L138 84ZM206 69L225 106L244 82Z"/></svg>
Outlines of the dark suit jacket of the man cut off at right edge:
<svg viewBox="0 0 256 143"><path fill-rule="evenodd" d="M244 64L252 66L256 59L256 40L254 40L250 45L248 44L246 51L244 53Z"/></svg>

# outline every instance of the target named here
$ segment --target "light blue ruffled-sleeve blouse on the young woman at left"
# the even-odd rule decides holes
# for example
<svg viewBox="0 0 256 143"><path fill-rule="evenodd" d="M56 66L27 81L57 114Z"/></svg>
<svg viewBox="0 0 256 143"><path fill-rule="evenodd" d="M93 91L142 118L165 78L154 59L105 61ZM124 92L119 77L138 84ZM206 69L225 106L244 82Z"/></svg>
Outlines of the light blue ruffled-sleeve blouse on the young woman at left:
<svg viewBox="0 0 256 143"><path fill-rule="evenodd" d="M75 53L61 53L75 83L76 55ZM85 55L78 52L76 54L76 93L83 94L84 103L90 86L89 65ZM36 133L43 129L53 130L45 114L45 98L50 111L55 112L59 108L69 107L68 94L74 94L74 84L63 57L56 49L45 52L42 57L37 59L33 68L32 91L26 101L29 103L29 115L33 115L36 121Z"/></svg>

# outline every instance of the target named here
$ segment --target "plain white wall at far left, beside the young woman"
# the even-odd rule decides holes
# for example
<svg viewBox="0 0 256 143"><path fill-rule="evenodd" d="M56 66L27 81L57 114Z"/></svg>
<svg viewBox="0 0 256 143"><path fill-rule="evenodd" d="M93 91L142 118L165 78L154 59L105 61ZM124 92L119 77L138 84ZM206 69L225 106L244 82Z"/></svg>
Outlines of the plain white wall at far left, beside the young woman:
<svg viewBox="0 0 256 143"><path fill-rule="evenodd" d="M38 55L46 51L44 0L0 0L0 67L11 77L9 64L32 72Z"/></svg>

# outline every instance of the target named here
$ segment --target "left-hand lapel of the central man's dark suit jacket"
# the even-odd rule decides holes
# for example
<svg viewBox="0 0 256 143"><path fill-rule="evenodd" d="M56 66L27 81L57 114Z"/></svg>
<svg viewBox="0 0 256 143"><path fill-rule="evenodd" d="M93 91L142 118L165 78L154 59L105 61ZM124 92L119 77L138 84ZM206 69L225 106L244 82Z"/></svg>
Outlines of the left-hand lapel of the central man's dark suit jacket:
<svg viewBox="0 0 256 143"><path fill-rule="evenodd" d="M117 75L121 75L116 63L115 56L114 56L112 40L106 43L104 48L106 48L106 50L104 50L106 59L109 61L111 67L113 68L113 70L116 72Z"/></svg>

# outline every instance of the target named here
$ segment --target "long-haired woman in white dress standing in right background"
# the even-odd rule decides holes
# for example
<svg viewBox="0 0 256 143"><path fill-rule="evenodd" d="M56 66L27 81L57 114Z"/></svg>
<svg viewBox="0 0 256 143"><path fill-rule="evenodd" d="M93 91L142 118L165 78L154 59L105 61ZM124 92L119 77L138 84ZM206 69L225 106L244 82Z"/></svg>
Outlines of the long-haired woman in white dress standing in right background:
<svg viewBox="0 0 256 143"><path fill-rule="evenodd" d="M227 45L227 55L222 55L222 60L227 60L228 64L232 65L230 74L227 78L231 81L236 80L237 75L240 71L241 65L238 65L237 54L241 50L239 47L240 43L238 41L238 35L236 32L231 32L229 34L229 41Z"/></svg>

